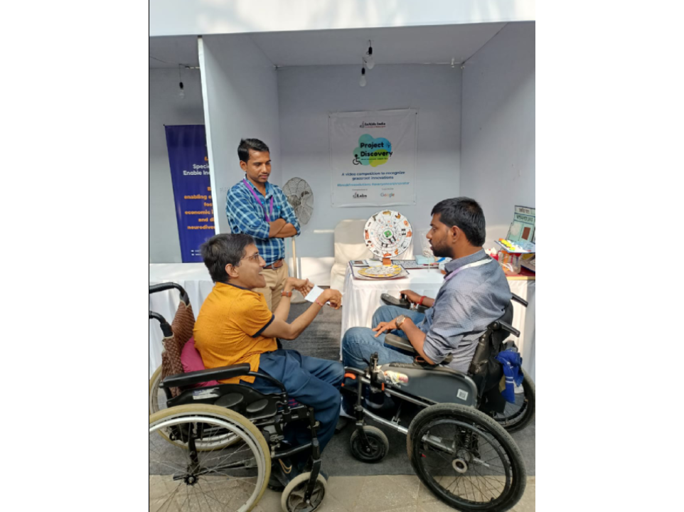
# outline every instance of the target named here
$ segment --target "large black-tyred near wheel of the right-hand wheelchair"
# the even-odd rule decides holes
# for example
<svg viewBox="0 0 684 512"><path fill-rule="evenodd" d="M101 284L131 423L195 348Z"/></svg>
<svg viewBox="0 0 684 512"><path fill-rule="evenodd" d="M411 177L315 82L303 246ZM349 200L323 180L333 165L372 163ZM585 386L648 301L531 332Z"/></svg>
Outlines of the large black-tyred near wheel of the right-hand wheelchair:
<svg viewBox="0 0 684 512"><path fill-rule="evenodd" d="M503 512L525 492L520 449L491 417L463 405L433 405L409 427L413 469L435 496L461 512Z"/></svg>

